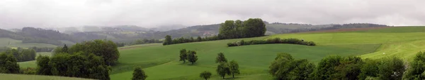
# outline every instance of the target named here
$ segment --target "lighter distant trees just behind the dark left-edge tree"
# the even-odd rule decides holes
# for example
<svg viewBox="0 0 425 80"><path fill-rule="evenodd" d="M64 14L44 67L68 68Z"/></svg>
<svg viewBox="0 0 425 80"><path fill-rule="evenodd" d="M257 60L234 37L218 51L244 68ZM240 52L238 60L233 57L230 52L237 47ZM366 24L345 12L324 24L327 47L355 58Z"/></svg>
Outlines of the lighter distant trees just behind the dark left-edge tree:
<svg viewBox="0 0 425 80"><path fill-rule="evenodd" d="M25 62L30 60L35 60L35 51L33 49L24 49L18 47L17 49L8 49L6 50L6 55L13 55L18 62Z"/></svg>

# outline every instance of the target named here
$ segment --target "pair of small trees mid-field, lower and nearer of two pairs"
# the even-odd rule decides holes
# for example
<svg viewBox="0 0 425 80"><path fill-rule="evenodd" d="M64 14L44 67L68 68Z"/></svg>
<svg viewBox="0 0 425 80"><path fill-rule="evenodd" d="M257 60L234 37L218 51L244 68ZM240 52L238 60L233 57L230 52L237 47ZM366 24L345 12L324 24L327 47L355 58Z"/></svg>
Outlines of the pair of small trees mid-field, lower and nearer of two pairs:
<svg viewBox="0 0 425 80"><path fill-rule="evenodd" d="M223 79L225 79L226 74L232 75L233 78L234 74L240 74L239 64L234 60L227 62L227 59L225 58L225 55L223 53L217 54L215 63L219 63L219 65L217 65L216 71L217 74L222 76Z"/></svg>

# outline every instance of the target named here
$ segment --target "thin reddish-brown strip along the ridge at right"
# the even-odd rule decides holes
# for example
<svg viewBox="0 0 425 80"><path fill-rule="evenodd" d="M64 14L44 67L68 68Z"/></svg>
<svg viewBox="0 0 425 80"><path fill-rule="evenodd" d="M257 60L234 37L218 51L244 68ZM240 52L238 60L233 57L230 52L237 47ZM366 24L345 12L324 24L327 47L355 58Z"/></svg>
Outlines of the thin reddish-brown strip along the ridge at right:
<svg viewBox="0 0 425 80"><path fill-rule="evenodd" d="M329 29L321 31L312 31L312 32L297 32L297 33L317 33L317 32L352 32L352 31L365 31L370 29L382 29L388 27L366 27L366 28L351 28L351 29Z"/></svg>

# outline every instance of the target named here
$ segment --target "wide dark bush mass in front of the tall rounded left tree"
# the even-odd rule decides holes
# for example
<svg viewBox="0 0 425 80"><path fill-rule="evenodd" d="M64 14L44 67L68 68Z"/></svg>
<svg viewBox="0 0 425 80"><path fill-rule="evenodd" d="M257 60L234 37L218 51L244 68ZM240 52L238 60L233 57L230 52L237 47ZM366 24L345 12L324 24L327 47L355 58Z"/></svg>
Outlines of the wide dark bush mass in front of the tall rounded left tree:
<svg viewBox="0 0 425 80"><path fill-rule="evenodd" d="M93 53L57 54L49 62L52 75L108 80L108 66Z"/></svg>

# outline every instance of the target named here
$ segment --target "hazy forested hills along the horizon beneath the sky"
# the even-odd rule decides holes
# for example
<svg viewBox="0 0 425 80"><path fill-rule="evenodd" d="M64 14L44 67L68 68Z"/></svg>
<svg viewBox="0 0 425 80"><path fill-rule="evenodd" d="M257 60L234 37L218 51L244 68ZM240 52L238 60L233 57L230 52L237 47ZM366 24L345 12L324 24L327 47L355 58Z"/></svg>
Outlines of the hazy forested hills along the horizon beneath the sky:
<svg viewBox="0 0 425 80"><path fill-rule="evenodd" d="M270 34L286 34L295 32L311 32L329 29L350 29L364 27L387 27L387 25L377 25L370 23L351 23L343 25L310 25L297 23L280 23L273 22L266 24L267 35ZM164 39L164 36L170 35L173 38L190 38L192 36L217 36L220 24L213 25L196 25L181 29L172 29L165 32L154 31L137 26L118 26L118 27L87 27L83 32L67 31L59 32L52 29L41 29L34 27L23 27L16 32L0 29L0 38L11 38L22 40L23 43L41 43L63 46L64 44L72 45L81 41L90 41L94 39L108 39L118 43L140 44L141 39ZM72 29L70 29L72 30ZM160 41L158 41L160 42Z"/></svg>

